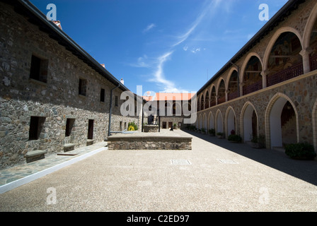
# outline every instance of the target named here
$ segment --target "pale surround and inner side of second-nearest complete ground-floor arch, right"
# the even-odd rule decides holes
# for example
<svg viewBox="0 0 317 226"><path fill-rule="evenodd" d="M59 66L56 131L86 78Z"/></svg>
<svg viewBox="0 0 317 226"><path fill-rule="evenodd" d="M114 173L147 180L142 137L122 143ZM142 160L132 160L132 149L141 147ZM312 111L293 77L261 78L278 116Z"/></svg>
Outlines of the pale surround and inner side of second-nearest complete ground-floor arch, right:
<svg viewBox="0 0 317 226"><path fill-rule="evenodd" d="M252 136L253 128L252 128L252 116L253 111L256 114L256 121L257 121L257 133L259 133L258 129L258 113L255 110L254 105L251 102L246 102L241 110L241 134L243 135L244 141L250 141L250 135Z"/></svg>

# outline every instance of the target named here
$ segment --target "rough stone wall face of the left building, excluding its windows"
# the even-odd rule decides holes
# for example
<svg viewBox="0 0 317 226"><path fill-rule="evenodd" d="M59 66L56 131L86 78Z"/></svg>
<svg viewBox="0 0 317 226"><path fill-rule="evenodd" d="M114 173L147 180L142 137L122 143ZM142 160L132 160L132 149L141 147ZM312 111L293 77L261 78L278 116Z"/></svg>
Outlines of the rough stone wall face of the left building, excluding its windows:
<svg viewBox="0 0 317 226"><path fill-rule="evenodd" d="M0 168L25 162L30 150L63 150L64 143L86 145L88 119L93 119L94 142L108 136L110 90L115 87L45 32L0 3ZM31 57L48 61L47 82L30 79ZM86 96L79 95L79 78L86 80ZM105 102L100 90L105 89ZM114 91L119 96L119 88ZM30 117L45 117L37 140L29 141ZM65 136L67 118L75 119ZM119 129L139 117L122 117L113 107L112 128Z"/></svg>

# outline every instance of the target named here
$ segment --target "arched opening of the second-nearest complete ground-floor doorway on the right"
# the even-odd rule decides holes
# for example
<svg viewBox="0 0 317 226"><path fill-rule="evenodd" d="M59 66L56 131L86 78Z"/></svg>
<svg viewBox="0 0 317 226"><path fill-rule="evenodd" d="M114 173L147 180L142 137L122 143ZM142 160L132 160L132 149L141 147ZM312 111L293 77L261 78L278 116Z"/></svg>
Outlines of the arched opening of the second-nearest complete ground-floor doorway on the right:
<svg viewBox="0 0 317 226"><path fill-rule="evenodd" d="M254 107L247 104L243 113L243 139L244 141L251 141L256 136L258 136L258 116Z"/></svg>

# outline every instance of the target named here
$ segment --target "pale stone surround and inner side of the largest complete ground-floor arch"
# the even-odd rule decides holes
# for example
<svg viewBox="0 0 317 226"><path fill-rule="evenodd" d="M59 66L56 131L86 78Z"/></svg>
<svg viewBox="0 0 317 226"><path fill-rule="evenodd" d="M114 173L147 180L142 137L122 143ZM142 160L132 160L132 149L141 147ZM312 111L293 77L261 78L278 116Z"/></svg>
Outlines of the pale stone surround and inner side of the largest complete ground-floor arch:
<svg viewBox="0 0 317 226"><path fill-rule="evenodd" d="M292 100L283 93L275 94L265 111L265 133L266 133L266 146L267 148L282 147L283 138L282 138L282 122L281 116L284 106L289 102L289 105L292 106L294 110L295 117L295 129L296 132L296 142L299 142L299 115L297 109L292 102ZM294 141L293 141L294 142Z"/></svg>

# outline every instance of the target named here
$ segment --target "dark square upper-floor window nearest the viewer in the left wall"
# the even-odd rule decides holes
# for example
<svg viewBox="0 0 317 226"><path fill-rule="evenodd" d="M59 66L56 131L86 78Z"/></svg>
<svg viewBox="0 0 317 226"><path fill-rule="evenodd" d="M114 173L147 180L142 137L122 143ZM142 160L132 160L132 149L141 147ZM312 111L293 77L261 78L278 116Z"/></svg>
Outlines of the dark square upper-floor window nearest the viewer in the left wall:
<svg viewBox="0 0 317 226"><path fill-rule="evenodd" d="M30 78L41 81L42 83L47 83L47 68L48 60L40 59L32 55Z"/></svg>

